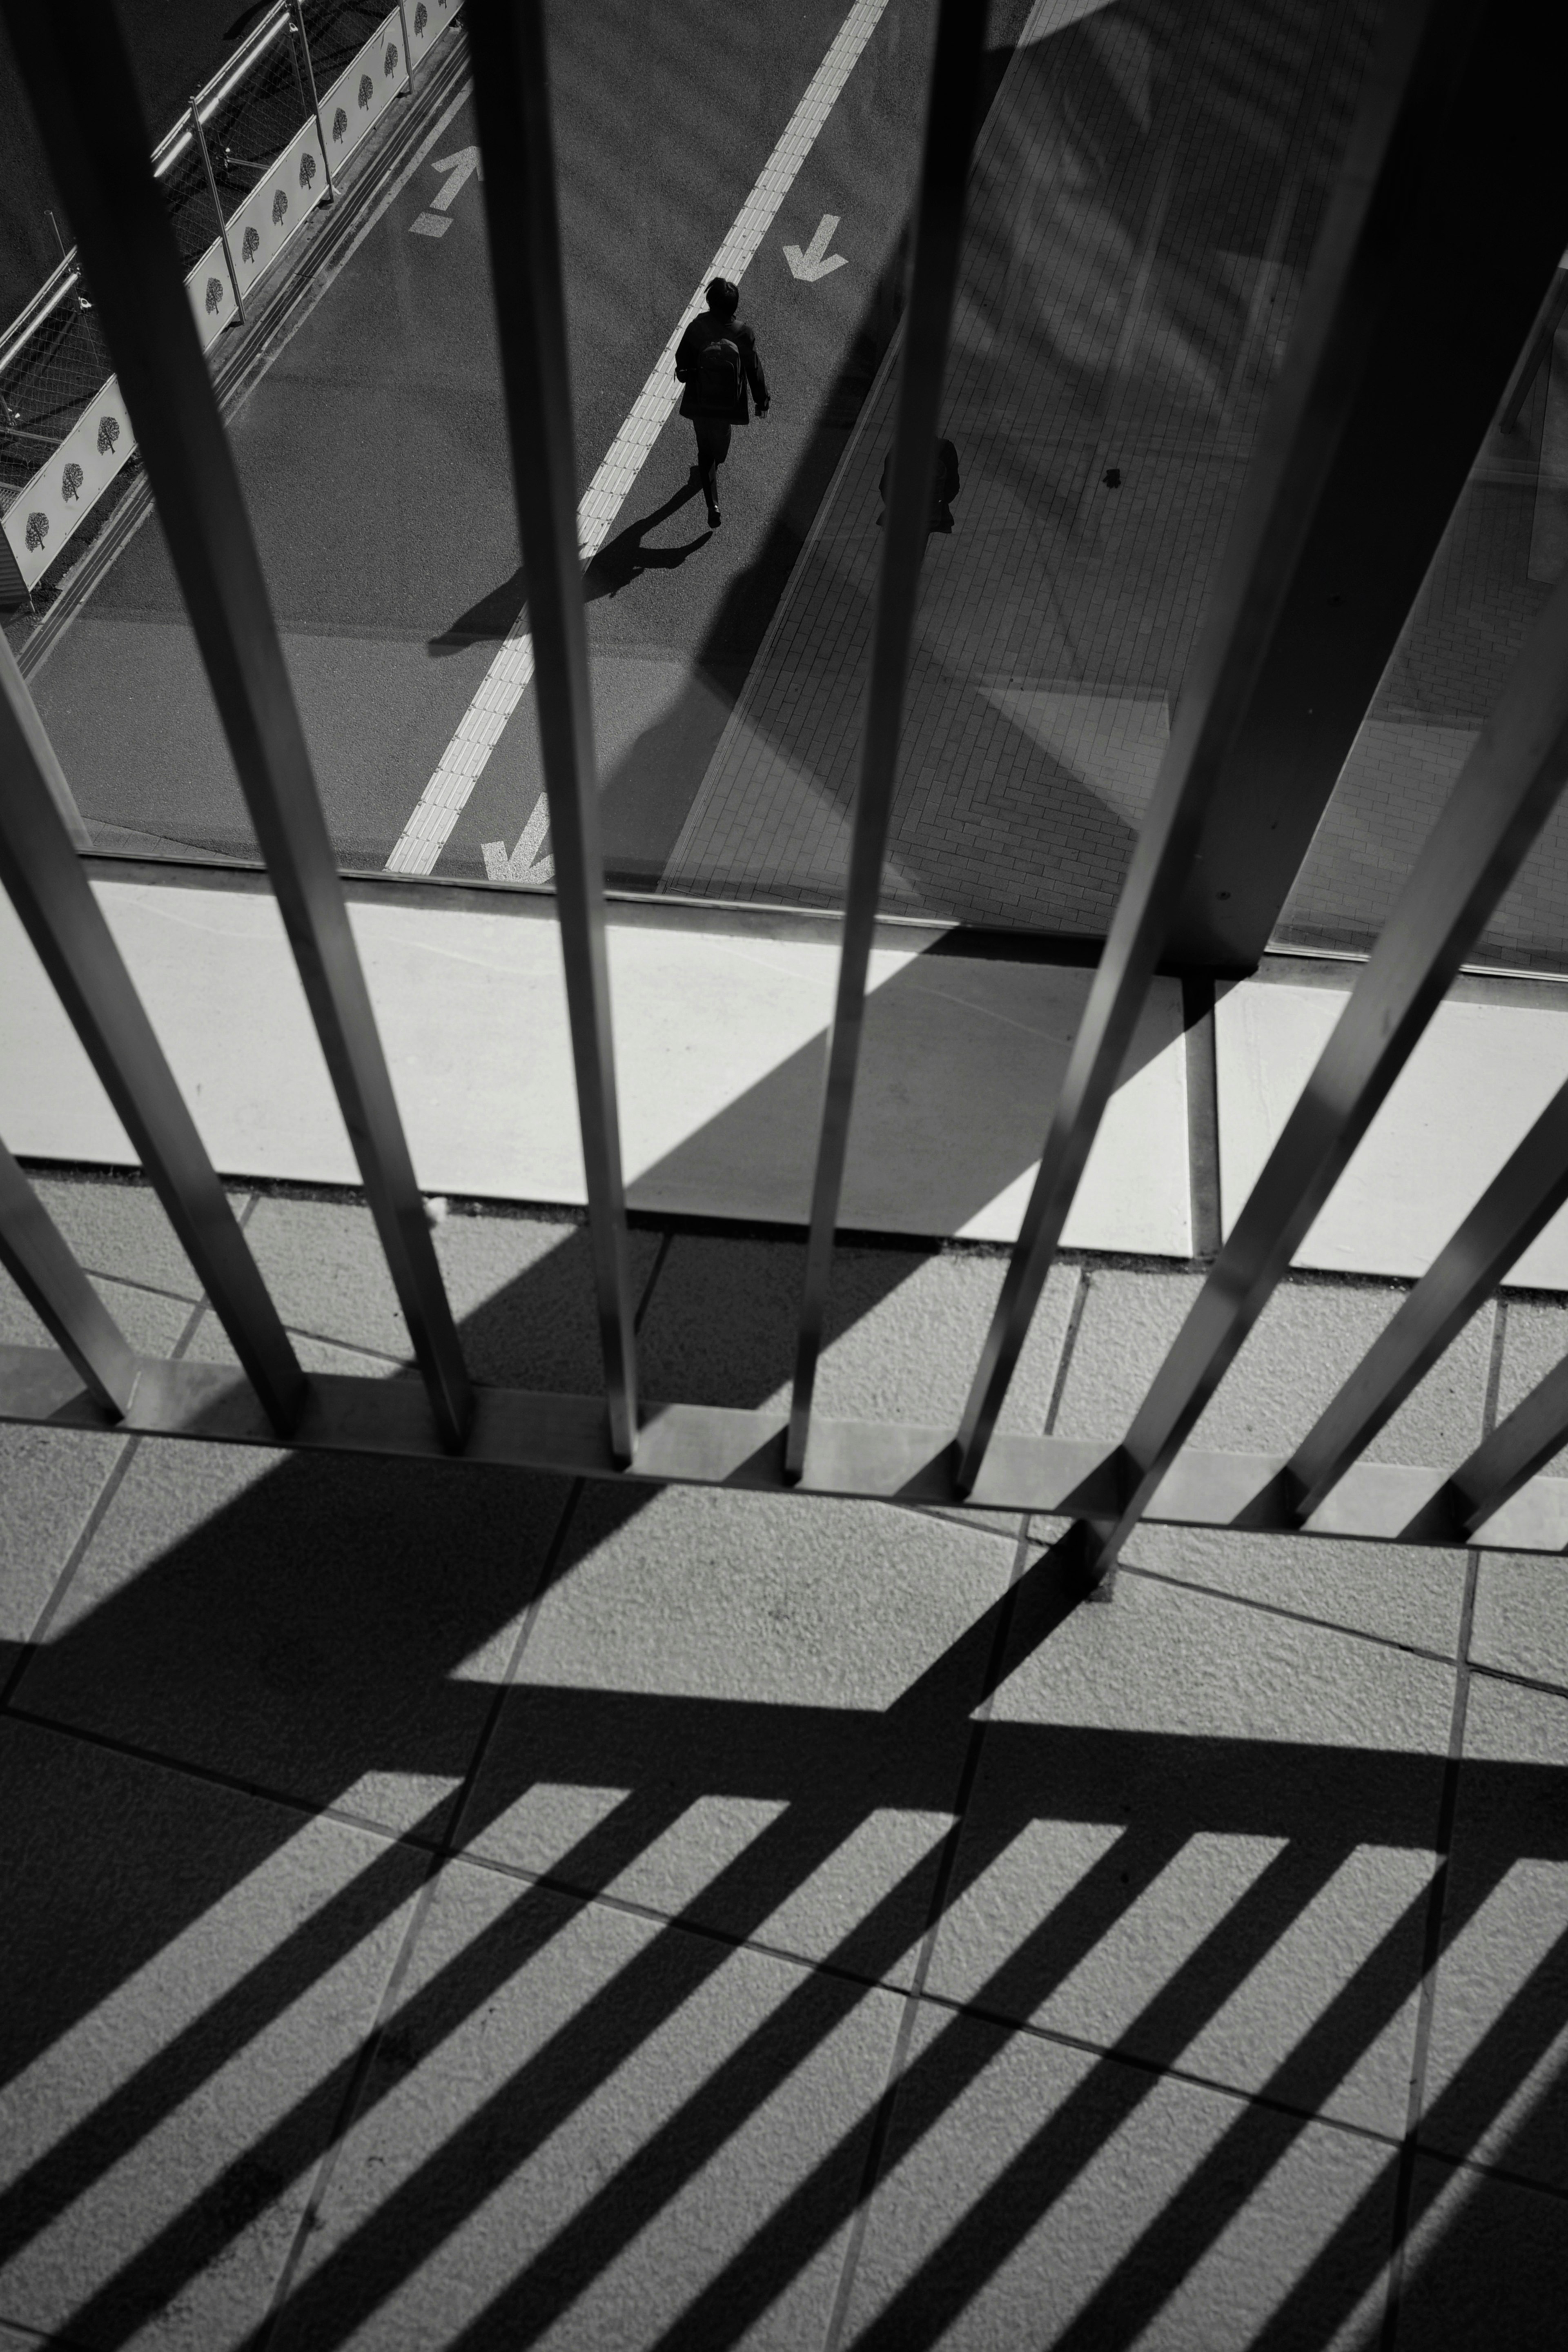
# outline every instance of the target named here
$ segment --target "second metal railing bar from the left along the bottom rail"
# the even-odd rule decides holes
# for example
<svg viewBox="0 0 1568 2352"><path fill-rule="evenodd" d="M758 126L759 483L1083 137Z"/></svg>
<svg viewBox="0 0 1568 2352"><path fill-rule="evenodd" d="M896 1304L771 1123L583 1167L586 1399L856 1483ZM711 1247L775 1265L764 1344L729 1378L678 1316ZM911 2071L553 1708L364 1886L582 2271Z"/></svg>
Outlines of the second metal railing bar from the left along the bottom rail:
<svg viewBox="0 0 1568 2352"><path fill-rule="evenodd" d="M0 637L0 880L266 1414L306 1399L289 1336L59 816L59 762Z"/></svg>

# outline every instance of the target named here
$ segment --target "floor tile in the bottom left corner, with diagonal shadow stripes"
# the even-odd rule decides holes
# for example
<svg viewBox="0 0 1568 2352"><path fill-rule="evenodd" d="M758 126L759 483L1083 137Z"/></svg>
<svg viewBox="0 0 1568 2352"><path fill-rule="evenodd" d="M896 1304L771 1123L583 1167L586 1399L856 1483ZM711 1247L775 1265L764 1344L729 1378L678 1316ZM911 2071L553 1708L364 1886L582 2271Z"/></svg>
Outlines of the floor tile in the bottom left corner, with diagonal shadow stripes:
<svg viewBox="0 0 1568 2352"><path fill-rule="evenodd" d="M28 1724L0 1755L0 2310L82 2345L233 2345L423 1858Z"/></svg>

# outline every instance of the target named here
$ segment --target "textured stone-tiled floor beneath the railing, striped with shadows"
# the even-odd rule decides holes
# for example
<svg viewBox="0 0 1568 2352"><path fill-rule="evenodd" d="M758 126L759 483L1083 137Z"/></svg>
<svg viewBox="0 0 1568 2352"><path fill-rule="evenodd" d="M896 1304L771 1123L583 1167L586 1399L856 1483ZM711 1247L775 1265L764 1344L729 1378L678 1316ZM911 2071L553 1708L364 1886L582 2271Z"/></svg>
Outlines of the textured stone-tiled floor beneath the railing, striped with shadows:
<svg viewBox="0 0 1568 2352"><path fill-rule="evenodd" d="M143 1348L221 1345L146 1190L45 1192ZM364 1211L244 1214L310 1357L402 1376ZM484 1378L595 1381L576 1225L437 1249ZM823 1404L950 1414L999 1275L846 1251ZM637 1277L651 1392L780 1390L797 1244ZM1112 1435L1192 1282L1058 1268L1020 1421ZM1394 1298L1291 1282L1211 1442ZM1549 1317L1385 1454L1472 1444ZM978 1512L38 1430L0 1477L0 2345L1561 2343L1561 1564L1145 1529L1081 1606Z"/></svg>

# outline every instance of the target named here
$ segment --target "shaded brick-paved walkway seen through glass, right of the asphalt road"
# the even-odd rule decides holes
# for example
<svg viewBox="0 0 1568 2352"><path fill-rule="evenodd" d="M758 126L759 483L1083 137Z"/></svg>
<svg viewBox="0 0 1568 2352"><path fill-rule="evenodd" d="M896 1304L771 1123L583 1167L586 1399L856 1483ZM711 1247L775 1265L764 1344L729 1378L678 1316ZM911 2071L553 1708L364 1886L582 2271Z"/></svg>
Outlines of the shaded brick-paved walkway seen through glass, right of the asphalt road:
<svg viewBox="0 0 1568 2352"><path fill-rule="evenodd" d="M1058 9L1060 14L1060 9ZM1046 9L1034 24L1044 26ZM971 186L886 906L1103 934L1338 165L1363 12L1121 5L1020 45ZM663 887L837 903L896 353L708 767ZM1284 922L1385 920L1547 588L1542 395L1481 454ZM1396 463L1399 454L1389 454ZM1540 569L1540 567L1537 567ZM1486 953L1559 964L1568 826Z"/></svg>

